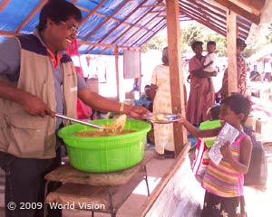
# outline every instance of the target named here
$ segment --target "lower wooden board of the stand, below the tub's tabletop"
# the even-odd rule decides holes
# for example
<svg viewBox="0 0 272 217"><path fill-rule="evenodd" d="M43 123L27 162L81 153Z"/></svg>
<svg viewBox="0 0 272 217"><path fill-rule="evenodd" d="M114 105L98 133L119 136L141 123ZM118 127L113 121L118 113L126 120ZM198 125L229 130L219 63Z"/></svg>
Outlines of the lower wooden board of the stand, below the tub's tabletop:
<svg viewBox="0 0 272 217"><path fill-rule="evenodd" d="M144 170L139 171L126 184L115 187L92 186L88 184L63 184L55 192L46 196L45 203L71 205L74 209L97 212L111 212L111 207L118 210L141 183ZM112 195L112 203L109 193ZM93 208L93 209L92 209ZM99 208L99 209L97 209Z"/></svg>

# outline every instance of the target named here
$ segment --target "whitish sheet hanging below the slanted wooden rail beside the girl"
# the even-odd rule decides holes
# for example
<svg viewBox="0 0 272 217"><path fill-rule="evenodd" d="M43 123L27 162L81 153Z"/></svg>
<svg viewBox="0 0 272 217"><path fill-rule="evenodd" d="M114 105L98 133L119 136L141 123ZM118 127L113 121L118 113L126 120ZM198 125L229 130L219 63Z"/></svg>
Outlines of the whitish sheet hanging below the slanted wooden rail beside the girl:
<svg viewBox="0 0 272 217"><path fill-rule="evenodd" d="M160 213L159 216L200 216L199 211L204 193L204 189L191 171L187 156L144 216L153 217L158 213Z"/></svg>

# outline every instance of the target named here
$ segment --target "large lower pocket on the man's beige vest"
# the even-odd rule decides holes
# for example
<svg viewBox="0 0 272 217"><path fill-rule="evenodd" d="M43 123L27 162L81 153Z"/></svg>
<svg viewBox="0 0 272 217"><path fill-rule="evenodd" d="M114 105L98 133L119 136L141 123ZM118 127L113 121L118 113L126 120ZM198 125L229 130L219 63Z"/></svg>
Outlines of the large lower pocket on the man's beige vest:
<svg viewBox="0 0 272 217"><path fill-rule="evenodd" d="M43 158L46 119L13 115L6 119L9 137L7 153L19 157Z"/></svg>

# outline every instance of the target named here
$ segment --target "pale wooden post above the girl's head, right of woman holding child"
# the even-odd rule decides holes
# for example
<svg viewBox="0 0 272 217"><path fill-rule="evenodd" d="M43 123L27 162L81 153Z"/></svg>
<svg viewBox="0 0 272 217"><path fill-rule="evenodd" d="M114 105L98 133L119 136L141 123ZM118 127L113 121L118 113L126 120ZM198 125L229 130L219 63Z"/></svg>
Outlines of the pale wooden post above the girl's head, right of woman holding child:
<svg viewBox="0 0 272 217"><path fill-rule="evenodd" d="M227 12L228 94L238 90L236 19L236 14L229 10Z"/></svg>

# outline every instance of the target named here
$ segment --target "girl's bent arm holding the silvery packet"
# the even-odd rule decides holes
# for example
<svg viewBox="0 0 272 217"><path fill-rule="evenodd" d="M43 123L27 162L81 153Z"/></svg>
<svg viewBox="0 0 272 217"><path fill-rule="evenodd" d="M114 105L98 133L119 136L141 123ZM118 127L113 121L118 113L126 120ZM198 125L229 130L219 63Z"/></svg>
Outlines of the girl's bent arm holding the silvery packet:
<svg viewBox="0 0 272 217"><path fill-rule="evenodd" d="M247 174L252 152L252 143L250 137L245 137L240 144L240 161L233 158L230 145L225 144L220 147L222 156L228 160L228 163L240 174Z"/></svg>

